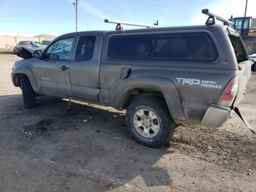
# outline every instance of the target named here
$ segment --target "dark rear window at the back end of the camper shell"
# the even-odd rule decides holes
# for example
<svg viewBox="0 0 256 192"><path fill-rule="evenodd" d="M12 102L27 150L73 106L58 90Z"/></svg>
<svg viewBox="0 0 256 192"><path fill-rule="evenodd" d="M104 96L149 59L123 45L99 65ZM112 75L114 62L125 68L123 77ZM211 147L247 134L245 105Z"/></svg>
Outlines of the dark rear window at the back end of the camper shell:
<svg viewBox="0 0 256 192"><path fill-rule="evenodd" d="M238 63L248 60L246 50L239 37L234 35L229 35L230 42L233 46L234 52L236 54L236 60Z"/></svg>

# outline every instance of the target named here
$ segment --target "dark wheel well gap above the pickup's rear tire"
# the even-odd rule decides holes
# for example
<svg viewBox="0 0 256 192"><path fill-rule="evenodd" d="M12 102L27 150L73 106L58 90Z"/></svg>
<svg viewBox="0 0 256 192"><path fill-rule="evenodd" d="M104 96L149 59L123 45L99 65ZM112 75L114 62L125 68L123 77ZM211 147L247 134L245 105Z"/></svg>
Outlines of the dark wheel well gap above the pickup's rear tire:
<svg viewBox="0 0 256 192"><path fill-rule="evenodd" d="M126 94L123 100L124 102L122 107L127 108L133 100L141 97L146 97L146 96L157 96L159 98L162 98L165 101L164 95L159 90L135 88L130 90Z"/></svg>

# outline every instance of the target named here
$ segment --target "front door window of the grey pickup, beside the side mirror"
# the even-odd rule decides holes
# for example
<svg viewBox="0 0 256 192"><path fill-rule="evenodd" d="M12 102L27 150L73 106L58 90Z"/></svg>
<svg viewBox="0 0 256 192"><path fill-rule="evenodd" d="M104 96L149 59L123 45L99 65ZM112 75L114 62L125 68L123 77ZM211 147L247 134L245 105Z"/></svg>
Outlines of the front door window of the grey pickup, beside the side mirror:
<svg viewBox="0 0 256 192"><path fill-rule="evenodd" d="M54 42L47 50L45 59L68 60L74 38L65 38Z"/></svg>

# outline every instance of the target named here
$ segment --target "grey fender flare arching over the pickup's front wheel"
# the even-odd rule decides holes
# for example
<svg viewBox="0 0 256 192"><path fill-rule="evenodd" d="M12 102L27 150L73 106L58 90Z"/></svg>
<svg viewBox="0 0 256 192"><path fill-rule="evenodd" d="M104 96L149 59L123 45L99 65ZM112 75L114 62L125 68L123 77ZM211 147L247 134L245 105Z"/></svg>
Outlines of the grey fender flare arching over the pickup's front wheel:
<svg viewBox="0 0 256 192"><path fill-rule="evenodd" d="M14 86L17 86L15 84L15 78L18 74L26 74L26 76L28 76L28 79L30 81L30 84L31 84L34 92L36 92L36 93L40 92L38 89L38 86L36 84L34 74L29 67L20 66L20 67L14 68L14 70L12 71L12 82L13 82Z"/></svg>

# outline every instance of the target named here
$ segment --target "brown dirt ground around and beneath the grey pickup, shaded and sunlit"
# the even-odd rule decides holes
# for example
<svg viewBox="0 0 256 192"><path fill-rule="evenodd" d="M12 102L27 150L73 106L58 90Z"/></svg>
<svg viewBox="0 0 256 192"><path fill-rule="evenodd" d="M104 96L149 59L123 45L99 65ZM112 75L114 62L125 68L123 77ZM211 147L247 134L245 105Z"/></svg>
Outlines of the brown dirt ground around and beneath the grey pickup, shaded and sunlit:
<svg viewBox="0 0 256 192"><path fill-rule="evenodd" d="M10 80L19 59L0 52L2 192L256 191L256 136L237 115L221 128L182 125L168 145L147 148L129 137L125 111L76 101L68 111L52 96L24 109ZM238 107L254 128L255 100L252 72Z"/></svg>

